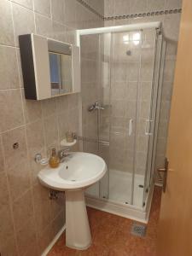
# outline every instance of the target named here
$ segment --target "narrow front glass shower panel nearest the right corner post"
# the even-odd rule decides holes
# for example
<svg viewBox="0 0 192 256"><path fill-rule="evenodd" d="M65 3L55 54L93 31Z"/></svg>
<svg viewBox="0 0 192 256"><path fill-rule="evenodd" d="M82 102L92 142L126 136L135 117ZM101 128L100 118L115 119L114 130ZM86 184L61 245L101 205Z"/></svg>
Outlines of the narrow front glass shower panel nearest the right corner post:
<svg viewBox="0 0 192 256"><path fill-rule="evenodd" d="M134 189L132 204L143 207L143 195L149 191L152 149L154 142L155 88L154 67L156 61L156 30L143 30L141 70L138 88L137 136ZM146 193L145 193L146 192Z"/></svg>

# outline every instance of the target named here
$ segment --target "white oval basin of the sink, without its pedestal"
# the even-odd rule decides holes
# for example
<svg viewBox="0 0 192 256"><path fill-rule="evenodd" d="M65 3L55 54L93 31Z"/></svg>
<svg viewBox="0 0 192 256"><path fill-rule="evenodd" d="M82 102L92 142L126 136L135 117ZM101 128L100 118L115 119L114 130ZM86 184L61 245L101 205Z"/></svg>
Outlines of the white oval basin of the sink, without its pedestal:
<svg viewBox="0 0 192 256"><path fill-rule="evenodd" d="M101 157L78 152L70 153L55 169L47 166L38 173L38 178L40 183L50 189L65 191L89 187L100 180L106 171L106 163Z"/></svg>

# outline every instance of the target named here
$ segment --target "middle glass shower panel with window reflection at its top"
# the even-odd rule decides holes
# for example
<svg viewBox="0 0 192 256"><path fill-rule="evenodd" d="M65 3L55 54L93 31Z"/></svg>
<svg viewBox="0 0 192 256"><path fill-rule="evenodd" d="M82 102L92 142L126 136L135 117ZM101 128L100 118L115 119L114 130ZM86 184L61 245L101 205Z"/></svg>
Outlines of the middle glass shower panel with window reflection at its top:
<svg viewBox="0 0 192 256"><path fill-rule="evenodd" d="M111 41L109 199L125 204L132 203L142 37L114 32Z"/></svg>

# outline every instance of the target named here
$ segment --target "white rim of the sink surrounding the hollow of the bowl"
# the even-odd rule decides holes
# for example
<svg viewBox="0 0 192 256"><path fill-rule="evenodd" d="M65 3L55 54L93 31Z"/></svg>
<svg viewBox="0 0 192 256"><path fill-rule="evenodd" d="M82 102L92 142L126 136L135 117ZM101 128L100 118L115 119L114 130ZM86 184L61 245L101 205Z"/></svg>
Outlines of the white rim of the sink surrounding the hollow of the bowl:
<svg viewBox="0 0 192 256"><path fill-rule="evenodd" d="M96 154L90 154L90 153L84 153L84 152L70 152L71 156L67 157L66 160L60 164L59 167L53 169L49 166L46 166L43 170L41 170L38 173L38 179L40 183L42 183L44 186L48 187L49 189L55 189L59 191L65 191L65 190L74 190L74 189L84 189L92 185L93 183L96 183L99 181L107 172L107 165L105 161ZM71 181L67 180L61 177L60 172L62 168L66 168L67 165L73 164L73 159L75 160L76 157L88 157L89 160L96 160L97 164L99 163L99 166L94 166L100 168L100 170L96 171L96 175L83 179L83 180L76 180ZM86 165L86 163L84 163ZM84 164L81 164L83 166ZM94 162L93 162L94 164ZM86 166L84 167L87 168ZM90 167L91 168L91 167ZM73 171L72 171L73 172Z"/></svg>

